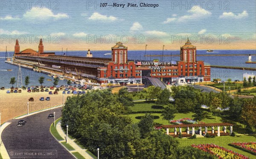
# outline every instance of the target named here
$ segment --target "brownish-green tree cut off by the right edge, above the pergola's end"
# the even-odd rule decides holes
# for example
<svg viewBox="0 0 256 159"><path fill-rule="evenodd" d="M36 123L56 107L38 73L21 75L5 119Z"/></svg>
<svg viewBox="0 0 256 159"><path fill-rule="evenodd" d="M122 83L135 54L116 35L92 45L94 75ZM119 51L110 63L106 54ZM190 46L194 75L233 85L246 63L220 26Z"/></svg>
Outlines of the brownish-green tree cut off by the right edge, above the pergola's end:
<svg viewBox="0 0 256 159"><path fill-rule="evenodd" d="M256 97L246 99L241 112L241 118L244 119L246 125L255 131L256 129Z"/></svg>

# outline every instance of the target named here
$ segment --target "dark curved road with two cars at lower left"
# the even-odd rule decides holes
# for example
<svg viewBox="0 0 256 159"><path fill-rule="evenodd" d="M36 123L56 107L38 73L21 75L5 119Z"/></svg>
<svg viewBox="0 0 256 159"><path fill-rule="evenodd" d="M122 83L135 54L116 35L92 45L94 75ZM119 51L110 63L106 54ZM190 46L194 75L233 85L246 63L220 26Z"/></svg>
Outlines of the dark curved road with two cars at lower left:
<svg viewBox="0 0 256 159"><path fill-rule="evenodd" d="M74 157L52 136L49 131L53 119L47 119L56 112L55 119L61 117L61 108L45 111L23 118L26 124L17 127L20 119L12 122L2 133L2 140L11 159L73 159Z"/></svg>

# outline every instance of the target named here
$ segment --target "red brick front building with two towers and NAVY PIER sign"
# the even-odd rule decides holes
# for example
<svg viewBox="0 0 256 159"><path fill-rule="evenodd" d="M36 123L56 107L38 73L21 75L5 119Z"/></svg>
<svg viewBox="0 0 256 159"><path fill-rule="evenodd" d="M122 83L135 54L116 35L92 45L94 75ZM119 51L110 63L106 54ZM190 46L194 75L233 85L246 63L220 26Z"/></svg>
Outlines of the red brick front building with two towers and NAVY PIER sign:
<svg viewBox="0 0 256 159"><path fill-rule="evenodd" d="M118 83L120 81L140 82L143 76L160 78L163 81L203 82L210 81L210 66L196 60L196 47L189 40L180 47L180 61L128 61L128 48L122 43L112 47L111 62L99 67L99 83Z"/></svg>

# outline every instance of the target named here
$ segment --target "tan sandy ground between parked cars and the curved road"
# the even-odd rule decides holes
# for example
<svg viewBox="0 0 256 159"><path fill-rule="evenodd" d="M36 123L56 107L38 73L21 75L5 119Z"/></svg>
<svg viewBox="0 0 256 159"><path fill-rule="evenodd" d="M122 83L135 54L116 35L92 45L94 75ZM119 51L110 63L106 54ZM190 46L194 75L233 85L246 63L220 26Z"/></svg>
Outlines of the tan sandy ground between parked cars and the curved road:
<svg viewBox="0 0 256 159"><path fill-rule="evenodd" d="M29 112L62 105L62 91L59 91L58 94L49 95L48 92L28 93L26 90L22 90L21 93L7 94L7 90L10 89L0 90L1 123L4 123L16 116L27 114L27 102L29 102L30 97L34 98L34 102L29 102ZM64 94L64 102L68 96L72 96L72 94ZM40 97L50 97L50 100L40 101Z"/></svg>

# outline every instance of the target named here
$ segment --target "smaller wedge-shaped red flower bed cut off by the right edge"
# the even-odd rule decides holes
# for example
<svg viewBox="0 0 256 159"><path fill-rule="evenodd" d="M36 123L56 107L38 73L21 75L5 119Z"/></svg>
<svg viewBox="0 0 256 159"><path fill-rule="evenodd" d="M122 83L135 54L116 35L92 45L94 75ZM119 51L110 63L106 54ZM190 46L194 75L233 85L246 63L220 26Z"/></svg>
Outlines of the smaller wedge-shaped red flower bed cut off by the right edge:
<svg viewBox="0 0 256 159"><path fill-rule="evenodd" d="M229 145L256 155L256 142L232 142Z"/></svg>

